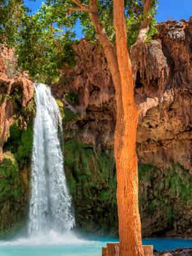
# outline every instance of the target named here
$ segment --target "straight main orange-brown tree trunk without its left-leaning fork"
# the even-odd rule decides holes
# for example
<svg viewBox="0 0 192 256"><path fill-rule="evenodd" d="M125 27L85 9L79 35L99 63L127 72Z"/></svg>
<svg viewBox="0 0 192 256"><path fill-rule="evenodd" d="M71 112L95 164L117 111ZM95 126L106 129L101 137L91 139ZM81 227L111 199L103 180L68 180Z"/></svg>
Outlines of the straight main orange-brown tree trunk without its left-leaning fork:
<svg viewBox="0 0 192 256"><path fill-rule="evenodd" d="M123 138L121 148L115 136L120 256L143 256L141 221L138 208L138 159L136 156L136 131L139 111L134 102L134 84L131 61L127 50L123 0L113 0L113 17L124 109L124 127L119 127L119 133L122 134Z"/></svg>

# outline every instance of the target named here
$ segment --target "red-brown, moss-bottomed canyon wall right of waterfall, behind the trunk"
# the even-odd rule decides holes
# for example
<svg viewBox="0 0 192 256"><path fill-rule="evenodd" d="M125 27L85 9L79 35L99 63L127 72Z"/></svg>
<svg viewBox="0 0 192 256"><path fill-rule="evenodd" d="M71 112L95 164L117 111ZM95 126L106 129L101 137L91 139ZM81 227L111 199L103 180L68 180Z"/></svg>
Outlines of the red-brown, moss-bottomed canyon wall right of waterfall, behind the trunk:
<svg viewBox="0 0 192 256"><path fill-rule="evenodd" d="M138 58L134 88L143 236L191 236L192 20L157 27ZM65 163L77 225L114 234L115 89L99 43L81 40L74 50L76 67L52 92L67 106Z"/></svg>

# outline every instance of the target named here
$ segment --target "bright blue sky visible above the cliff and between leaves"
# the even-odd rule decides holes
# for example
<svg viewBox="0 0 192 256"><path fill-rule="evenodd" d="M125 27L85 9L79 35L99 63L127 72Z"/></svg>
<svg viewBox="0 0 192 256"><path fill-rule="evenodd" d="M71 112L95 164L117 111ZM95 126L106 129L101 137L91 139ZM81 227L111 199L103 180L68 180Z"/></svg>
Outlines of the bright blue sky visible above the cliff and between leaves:
<svg viewBox="0 0 192 256"><path fill-rule="evenodd" d="M35 12L43 1L36 0L33 2L30 0L24 0L24 2L26 6ZM168 19L189 20L190 16L192 16L192 0L159 0L159 9L156 16L157 22L166 21ZM76 24L76 34L77 38L83 37L79 22Z"/></svg>

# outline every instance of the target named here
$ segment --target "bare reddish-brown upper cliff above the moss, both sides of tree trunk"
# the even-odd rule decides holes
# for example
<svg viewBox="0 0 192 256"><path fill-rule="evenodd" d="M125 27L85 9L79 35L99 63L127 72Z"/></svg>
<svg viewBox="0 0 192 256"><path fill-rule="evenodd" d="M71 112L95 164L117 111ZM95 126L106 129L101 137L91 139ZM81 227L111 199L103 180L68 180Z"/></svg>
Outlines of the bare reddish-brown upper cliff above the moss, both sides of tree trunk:
<svg viewBox="0 0 192 256"><path fill-rule="evenodd" d="M138 156L142 163L147 161L164 168L173 161L191 170L191 25L184 21L165 22L158 29L159 35L148 45L142 65L138 64L142 67L138 68L135 87L141 110ZM83 116L82 136L106 148L113 144L115 127L114 87L107 61L99 44L81 40L74 49L76 67L52 91L59 97L77 93L75 107Z"/></svg>

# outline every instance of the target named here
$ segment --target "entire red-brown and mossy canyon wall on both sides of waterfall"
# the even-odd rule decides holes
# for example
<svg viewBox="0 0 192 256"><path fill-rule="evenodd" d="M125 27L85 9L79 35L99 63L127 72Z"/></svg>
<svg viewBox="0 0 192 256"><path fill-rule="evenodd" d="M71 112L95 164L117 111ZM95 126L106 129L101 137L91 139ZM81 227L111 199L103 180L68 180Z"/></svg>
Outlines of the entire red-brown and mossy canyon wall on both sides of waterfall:
<svg viewBox="0 0 192 256"><path fill-rule="evenodd" d="M143 236L191 236L192 20L158 24L137 61L137 153ZM74 45L76 67L52 85L63 116L65 172L77 228L116 236L115 89L99 43ZM28 211L35 100L6 47L0 56L0 236Z"/></svg>

